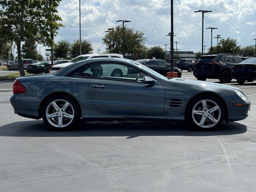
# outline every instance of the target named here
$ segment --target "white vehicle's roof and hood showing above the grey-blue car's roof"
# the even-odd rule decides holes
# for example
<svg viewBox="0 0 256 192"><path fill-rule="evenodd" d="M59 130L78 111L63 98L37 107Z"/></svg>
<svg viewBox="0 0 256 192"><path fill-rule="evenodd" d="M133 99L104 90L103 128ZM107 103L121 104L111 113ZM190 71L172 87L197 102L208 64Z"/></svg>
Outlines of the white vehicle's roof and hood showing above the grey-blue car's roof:
<svg viewBox="0 0 256 192"><path fill-rule="evenodd" d="M50 73L54 73L54 72L60 70L61 68L69 66L69 65L71 65L75 62L86 60L86 59L92 59L92 58L124 58L124 57L120 54L86 54L86 55L80 55L80 56L77 56L76 58L72 59L68 63L63 63L63 64L58 64L58 65L52 66L52 70L50 71Z"/></svg>

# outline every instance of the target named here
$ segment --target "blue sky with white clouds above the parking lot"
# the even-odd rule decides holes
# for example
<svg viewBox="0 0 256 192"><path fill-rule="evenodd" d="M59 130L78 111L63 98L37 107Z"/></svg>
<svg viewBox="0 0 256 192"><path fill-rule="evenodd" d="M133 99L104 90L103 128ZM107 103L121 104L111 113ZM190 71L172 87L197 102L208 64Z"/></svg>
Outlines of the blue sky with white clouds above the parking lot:
<svg viewBox="0 0 256 192"><path fill-rule="evenodd" d="M174 41L181 51L201 49L202 13L194 13L196 10L212 10L205 13L204 28L218 28L213 37L230 36L241 46L255 44L256 0L174 0ZM65 27L60 28L55 41L79 38L79 0L62 0L58 12ZM104 31L120 24L116 20L131 20L127 25L144 31L148 47L170 44L170 36L166 36L171 30L170 0L81 0L82 39L93 43L94 53L105 51L101 39ZM210 30L204 29L204 45L210 44ZM44 51L41 48L41 54L45 55Z"/></svg>

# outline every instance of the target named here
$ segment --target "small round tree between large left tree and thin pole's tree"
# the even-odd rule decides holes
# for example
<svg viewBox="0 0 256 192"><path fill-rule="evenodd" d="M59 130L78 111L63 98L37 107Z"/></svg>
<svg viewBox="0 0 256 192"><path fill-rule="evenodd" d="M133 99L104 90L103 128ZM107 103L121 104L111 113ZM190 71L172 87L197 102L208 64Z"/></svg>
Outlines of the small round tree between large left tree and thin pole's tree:
<svg viewBox="0 0 256 192"><path fill-rule="evenodd" d="M60 40L53 47L54 57L56 58L67 58L70 51L70 42L68 40Z"/></svg>

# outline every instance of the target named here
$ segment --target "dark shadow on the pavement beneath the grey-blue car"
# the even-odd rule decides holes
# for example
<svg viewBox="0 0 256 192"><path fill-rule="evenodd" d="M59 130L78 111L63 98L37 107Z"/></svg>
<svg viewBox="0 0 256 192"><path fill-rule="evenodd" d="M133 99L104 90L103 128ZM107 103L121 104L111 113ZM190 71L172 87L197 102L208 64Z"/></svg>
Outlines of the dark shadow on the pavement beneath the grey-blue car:
<svg viewBox="0 0 256 192"><path fill-rule="evenodd" d="M16 137L94 137L94 136L214 136L234 135L247 131L247 127L237 122L223 123L214 131L198 131L190 126L172 122L112 121L85 122L76 124L74 130L59 132L48 130L42 120L22 121L0 127L0 136Z"/></svg>

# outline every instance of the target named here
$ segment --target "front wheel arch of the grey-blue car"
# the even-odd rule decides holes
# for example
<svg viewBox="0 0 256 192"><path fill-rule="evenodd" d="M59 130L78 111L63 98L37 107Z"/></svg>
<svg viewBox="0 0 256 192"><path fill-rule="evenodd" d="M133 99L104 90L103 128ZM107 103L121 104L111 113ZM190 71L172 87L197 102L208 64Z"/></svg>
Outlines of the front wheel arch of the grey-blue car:
<svg viewBox="0 0 256 192"><path fill-rule="evenodd" d="M226 105L224 99L223 99L220 95L218 95L218 94L216 94L216 93L213 93L213 92L201 92L201 93L198 93L198 94L192 96L192 97L190 98L190 100L188 101L188 103L187 103L187 105L186 105L186 108L185 108L185 113L184 113L185 119L187 118L186 116L187 116L187 111L188 111L188 106L189 106L189 104L192 102L192 100L194 100L194 99L195 99L196 97L198 97L198 96L213 96L213 97L215 97L216 99L220 100L220 102L221 102L222 105L224 106L224 110L225 110L224 120L225 120L226 122L228 122L228 106Z"/></svg>

